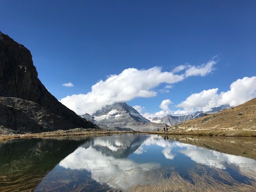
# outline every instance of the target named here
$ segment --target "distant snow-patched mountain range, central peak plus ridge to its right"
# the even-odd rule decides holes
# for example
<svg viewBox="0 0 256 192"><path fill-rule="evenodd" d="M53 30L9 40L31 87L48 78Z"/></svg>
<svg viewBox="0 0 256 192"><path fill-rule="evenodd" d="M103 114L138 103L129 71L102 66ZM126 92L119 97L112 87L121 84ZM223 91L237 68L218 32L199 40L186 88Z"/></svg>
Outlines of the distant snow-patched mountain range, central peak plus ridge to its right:
<svg viewBox="0 0 256 192"><path fill-rule="evenodd" d="M187 120L200 118L205 114L216 113L220 110L229 108L228 105L211 108L206 112L198 111L194 115L171 116L166 115L162 118L154 117L146 119L134 108L125 102L114 103L103 107L96 113L84 114L81 117L90 120L101 128L112 130L157 130L166 126L172 126Z"/></svg>

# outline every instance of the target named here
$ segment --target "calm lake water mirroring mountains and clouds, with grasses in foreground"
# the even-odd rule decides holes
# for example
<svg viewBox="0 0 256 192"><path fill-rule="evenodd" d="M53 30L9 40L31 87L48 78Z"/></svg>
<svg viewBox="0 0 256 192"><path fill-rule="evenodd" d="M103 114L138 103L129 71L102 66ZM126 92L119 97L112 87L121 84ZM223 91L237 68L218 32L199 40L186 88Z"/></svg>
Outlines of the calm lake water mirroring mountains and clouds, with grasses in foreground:
<svg viewBox="0 0 256 192"><path fill-rule="evenodd" d="M0 142L0 191L255 189L256 160L181 140L122 134Z"/></svg>

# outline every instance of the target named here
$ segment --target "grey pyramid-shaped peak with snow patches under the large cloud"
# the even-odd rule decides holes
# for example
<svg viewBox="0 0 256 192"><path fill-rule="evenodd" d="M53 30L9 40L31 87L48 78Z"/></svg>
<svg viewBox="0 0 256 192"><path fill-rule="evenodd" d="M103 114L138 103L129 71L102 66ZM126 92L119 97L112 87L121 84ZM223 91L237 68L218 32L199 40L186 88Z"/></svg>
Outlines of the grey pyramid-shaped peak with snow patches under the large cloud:
<svg viewBox="0 0 256 192"><path fill-rule="evenodd" d="M156 124L150 122L150 120L144 118L134 108L122 102L107 105L92 115L84 114L81 117L90 120L102 128L105 126L105 128L117 128L119 130L130 128L136 131L148 131L166 127L166 124L163 123Z"/></svg>

